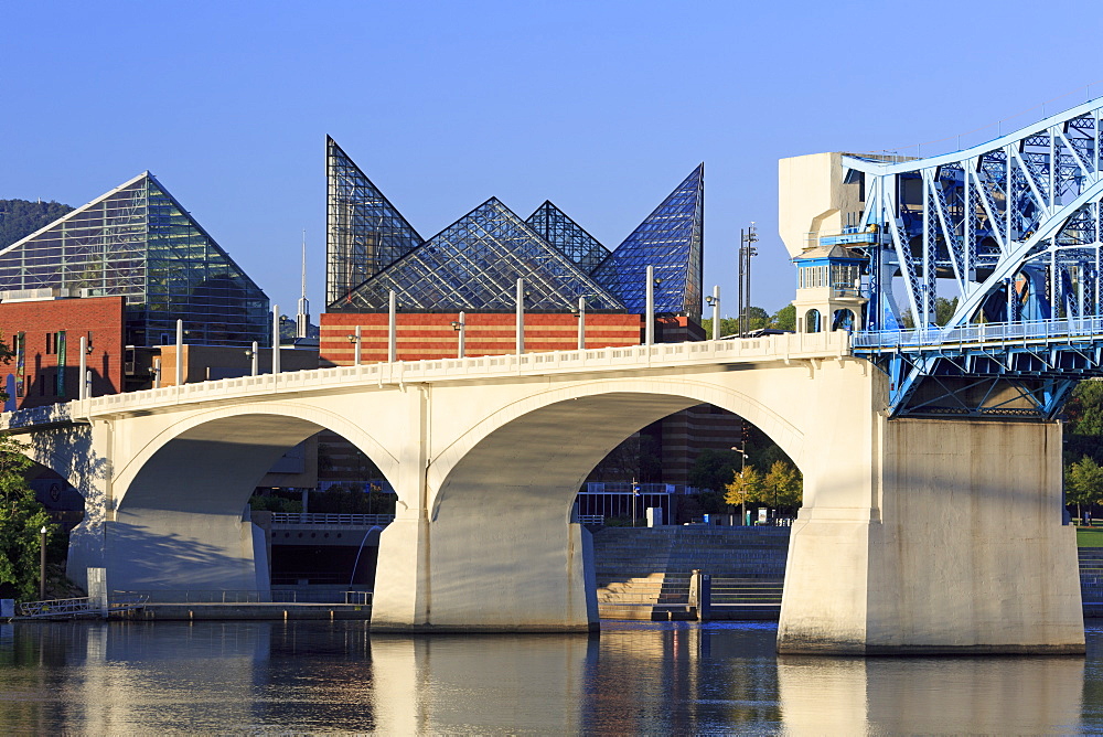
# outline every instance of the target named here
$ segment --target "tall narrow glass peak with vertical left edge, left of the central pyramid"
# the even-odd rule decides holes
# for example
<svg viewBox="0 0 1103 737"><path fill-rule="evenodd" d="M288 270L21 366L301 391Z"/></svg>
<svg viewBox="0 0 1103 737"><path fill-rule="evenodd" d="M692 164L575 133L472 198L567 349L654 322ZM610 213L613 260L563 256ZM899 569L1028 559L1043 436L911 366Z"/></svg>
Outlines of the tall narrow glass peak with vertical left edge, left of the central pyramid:
<svg viewBox="0 0 1103 737"><path fill-rule="evenodd" d="M425 238L329 136L325 170L325 301L333 306Z"/></svg>

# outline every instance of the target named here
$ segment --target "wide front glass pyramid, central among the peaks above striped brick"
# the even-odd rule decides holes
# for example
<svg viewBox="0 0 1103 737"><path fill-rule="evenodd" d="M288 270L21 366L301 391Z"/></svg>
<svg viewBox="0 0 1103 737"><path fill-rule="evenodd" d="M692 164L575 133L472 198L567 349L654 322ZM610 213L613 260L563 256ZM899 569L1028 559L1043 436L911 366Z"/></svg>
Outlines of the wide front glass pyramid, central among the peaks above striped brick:
<svg viewBox="0 0 1103 737"><path fill-rule="evenodd" d="M528 310L569 310L581 296L591 309L623 309L493 197L350 292L342 307L386 309L394 289L405 310L511 311L518 278L525 280Z"/></svg>

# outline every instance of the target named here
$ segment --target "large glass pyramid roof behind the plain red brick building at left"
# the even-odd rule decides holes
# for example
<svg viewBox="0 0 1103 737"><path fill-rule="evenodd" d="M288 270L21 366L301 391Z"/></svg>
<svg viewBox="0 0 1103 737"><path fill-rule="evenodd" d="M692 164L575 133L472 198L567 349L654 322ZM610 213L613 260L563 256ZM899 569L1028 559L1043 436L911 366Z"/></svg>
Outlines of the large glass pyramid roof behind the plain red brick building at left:
<svg viewBox="0 0 1103 737"><path fill-rule="evenodd" d="M126 298L126 341L267 344L268 298L148 171L0 250L0 291Z"/></svg>

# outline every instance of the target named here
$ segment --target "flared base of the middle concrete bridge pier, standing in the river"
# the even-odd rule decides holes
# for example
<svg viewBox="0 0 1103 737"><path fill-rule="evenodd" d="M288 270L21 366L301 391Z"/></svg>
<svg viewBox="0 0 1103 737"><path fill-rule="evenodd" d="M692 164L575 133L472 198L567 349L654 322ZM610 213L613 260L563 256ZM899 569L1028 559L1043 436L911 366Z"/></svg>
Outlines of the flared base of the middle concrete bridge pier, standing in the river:
<svg viewBox="0 0 1103 737"><path fill-rule="evenodd" d="M598 629L590 533L533 513L485 510L395 520L379 537L372 629L587 632ZM538 512L538 510L537 510Z"/></svg>

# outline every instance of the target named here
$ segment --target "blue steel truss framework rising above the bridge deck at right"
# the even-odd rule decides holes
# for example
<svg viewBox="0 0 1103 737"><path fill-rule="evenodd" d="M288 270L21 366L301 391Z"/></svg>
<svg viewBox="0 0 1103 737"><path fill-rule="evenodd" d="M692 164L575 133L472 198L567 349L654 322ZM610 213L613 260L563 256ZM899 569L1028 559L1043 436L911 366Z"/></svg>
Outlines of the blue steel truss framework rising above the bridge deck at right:
<svg viewBox="0 0 1103 737"><path fill-rule="evenodd" d="M867 249L877 309L899 276L893 308L924 330L939 297L959 300L940 330L1103 314L1101 113L1097 98L928 159L845 156L844 167L865 173L865 223L891 236Z"/></svg>

